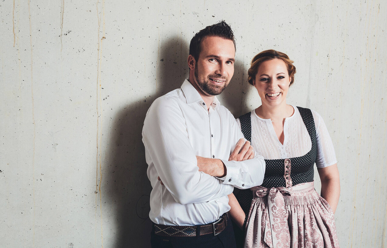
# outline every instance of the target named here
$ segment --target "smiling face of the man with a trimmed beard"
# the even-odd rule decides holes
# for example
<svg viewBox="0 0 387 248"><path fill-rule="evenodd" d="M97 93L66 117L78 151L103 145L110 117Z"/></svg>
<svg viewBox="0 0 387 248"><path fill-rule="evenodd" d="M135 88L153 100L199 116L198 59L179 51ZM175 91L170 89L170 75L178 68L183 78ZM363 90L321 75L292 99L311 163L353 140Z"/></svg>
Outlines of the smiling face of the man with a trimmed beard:
<svg viewBox="0 0 387 248"><path fill-rule="evenodd" d="M235 47L232 40L204 38L195 63L195 83L204 95L219 95L234 74Z"/></svg>

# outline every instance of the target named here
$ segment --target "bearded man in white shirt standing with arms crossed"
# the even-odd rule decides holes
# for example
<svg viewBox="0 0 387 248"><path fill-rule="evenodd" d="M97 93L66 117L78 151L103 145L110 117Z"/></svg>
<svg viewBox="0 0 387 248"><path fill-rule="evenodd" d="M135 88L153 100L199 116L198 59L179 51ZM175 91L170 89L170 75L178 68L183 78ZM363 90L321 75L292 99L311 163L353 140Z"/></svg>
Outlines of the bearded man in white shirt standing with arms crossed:
<svg viewBox="0 0 387 248"><path fill-rule="evenodd" d="M260 185L265 162L215 97L231 80L234 62L229 25L206 27L191 40L188 80L147 112L142 141L153 188L153 248L235 247L228 195Z"/></svg>

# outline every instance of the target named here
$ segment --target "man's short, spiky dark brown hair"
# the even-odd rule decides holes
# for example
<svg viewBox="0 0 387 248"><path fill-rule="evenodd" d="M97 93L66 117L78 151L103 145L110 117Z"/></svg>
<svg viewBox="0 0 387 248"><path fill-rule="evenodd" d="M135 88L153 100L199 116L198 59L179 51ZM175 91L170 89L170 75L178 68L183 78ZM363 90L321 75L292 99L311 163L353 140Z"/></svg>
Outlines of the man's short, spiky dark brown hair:
<svg viewBox="0 0 387 248"><path fill-rule="evenodd" d="M199 59L202 41L205 37L209 36L229 39L234 42L234 48L236 49L235 37L231 27L224 20L221 20L216 24L205 27L205 29L200 30L192 37L190 43L190 55L194 56L196 61Z"/></svg>

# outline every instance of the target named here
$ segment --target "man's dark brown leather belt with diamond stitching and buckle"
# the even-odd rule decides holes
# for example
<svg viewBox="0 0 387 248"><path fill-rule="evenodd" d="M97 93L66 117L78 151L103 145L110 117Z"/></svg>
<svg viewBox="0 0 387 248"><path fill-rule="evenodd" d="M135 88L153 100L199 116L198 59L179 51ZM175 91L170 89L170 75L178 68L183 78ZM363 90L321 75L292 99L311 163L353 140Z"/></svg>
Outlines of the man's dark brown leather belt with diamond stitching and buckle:
<svg viewBox="0 0 387 248"><path fill-rule="evenodd" d="M214 236L226 228L229 221L229 213L224 213L216 221L200 226L166 226L152 223L154 234L168 237L191 237L213 233Z"/></svg>

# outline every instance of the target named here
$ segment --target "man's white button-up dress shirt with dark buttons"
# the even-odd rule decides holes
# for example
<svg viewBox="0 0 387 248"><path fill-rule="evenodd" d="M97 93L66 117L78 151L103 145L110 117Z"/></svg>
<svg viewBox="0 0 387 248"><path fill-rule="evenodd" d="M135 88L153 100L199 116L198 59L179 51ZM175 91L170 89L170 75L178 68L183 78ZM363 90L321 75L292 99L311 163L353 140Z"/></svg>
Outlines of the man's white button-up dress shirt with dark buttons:
<svg viewBox="0 0 387 248"><path fill-rule="evenodd" d="M211 223L229 211L227 195L233 186L248 189L262 184L262 156L228 161L240 138L244 137L233 115L216 97L207 110L188 80L156 99L142 129L147 175L153 188L151 221L173 226ZM226 176L216 178L199 172L196 156L221 159Z"/></svg>

